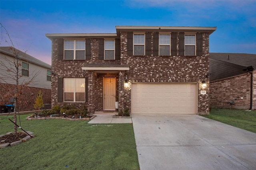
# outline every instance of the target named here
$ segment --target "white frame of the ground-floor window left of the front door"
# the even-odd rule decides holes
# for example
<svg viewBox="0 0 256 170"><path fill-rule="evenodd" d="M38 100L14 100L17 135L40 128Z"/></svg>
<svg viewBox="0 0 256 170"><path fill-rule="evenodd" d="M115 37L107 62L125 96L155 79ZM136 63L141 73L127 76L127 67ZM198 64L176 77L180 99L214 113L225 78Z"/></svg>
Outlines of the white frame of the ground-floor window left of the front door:
<svg viewBox="0 0 256 170"><path fill-rule="evenodd" d="M66 84L66 80L67 79L74 79L74 82L73 82L73 91L66 91L66 87L65 87L65 84ZM76 101L76 92L79 92L76 90L76 79L83 79L83 83L81 84L81 87L84 88L84 101ZM63 78L63 98L64 98L64 102L85 102L86 99L85 99L85 96L86 96L86 87L85 87L85 78ZM73 101L65 101L65 93L73 93ZM81 93L81 92L80 92Z"/></svg>

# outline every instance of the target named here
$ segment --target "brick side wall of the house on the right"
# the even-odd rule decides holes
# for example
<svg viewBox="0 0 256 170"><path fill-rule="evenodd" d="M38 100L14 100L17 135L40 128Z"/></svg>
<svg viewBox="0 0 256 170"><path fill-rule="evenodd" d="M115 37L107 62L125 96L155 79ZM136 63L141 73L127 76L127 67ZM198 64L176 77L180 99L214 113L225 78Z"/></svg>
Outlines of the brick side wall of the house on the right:
<svg viewBox="0 0 256 170"><path fill-rule="evenodd" d="M226 78L223 80L210 82L210 106L235 109L249 109L250 77L250 74L247 73L231 78ZM234 105L228 104L228 102L230 101L234 101ZM253 106L255 106L255 104L253 104Z"/></svg>

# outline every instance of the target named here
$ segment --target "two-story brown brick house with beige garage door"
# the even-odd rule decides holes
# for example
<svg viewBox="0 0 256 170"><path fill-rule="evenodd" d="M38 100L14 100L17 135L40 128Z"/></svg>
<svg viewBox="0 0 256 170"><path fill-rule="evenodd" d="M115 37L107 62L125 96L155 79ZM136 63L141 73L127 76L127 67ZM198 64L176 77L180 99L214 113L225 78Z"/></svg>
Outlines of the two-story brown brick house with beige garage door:
<svg viewBox="0 0 256 170"><path fill-rule="evenodd" d="M52 106L132 114L207 114L209 35L216 27L116 26L52 33Z"/></svg>

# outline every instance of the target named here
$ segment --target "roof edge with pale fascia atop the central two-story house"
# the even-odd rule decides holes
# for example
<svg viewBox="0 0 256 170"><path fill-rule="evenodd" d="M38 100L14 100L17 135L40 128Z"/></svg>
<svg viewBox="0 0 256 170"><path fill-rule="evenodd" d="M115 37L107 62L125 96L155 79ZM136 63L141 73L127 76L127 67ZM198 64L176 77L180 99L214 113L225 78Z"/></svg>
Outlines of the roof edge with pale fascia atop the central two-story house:
<svg viewBox="0 0 256 170"><path fill-rule="evenodd" d="M116 33L46 33L45 36L52 38L118 38L120 31L133 32L208 32L213 33L217 27L172 27L172 26L116 26Z"/></svg>

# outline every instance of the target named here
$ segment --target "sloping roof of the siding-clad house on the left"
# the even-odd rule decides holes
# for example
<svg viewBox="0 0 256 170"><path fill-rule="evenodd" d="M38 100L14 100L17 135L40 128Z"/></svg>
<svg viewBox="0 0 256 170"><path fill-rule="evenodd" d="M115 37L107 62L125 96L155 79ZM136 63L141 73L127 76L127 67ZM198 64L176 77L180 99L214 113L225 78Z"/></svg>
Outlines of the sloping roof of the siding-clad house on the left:
<svg viewBox="0 0 256 170"><path fill-rule="evenodd" d="M12 49L13 49L13 47L0 47L0 52L14 57ZM50 64L44 63L43 61L38 60L35 57L32 57L31 55L28 55L27 53L24 53L24 52L22 52L18 49L16 49L16 50L18 51L18 56L22 60L29 61L30 63L34 63L34 64L37 64L37 65L40 65L40 66L51 69Z"/></svg>

